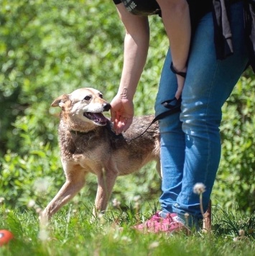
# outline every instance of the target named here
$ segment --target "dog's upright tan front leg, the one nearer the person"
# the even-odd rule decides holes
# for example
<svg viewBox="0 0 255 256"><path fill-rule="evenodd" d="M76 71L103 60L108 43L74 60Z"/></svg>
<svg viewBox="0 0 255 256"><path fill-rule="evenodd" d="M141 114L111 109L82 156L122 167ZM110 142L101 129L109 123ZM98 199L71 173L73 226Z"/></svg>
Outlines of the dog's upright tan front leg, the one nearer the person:
<svg viewBox="0 0 255 256"><path fill-rule="evenodd" d="M98 174L98 191L96 193L93 216L96 216L97 212L106 210L117 176L117 173L113 173L111 170L102 170Z"/></svg>

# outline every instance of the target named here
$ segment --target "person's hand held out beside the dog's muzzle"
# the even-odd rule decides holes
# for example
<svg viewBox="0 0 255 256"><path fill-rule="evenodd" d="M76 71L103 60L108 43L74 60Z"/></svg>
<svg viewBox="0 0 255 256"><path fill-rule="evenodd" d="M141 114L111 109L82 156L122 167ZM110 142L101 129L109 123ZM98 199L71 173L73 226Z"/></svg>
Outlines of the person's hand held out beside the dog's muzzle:
<svg viewBox="0 0 255 256"><path fill-rule="evenodd" d="M111 101L111 122L113 122L113 129L117 135L129 129L133 116L133 102L116 95Z"/></svg>

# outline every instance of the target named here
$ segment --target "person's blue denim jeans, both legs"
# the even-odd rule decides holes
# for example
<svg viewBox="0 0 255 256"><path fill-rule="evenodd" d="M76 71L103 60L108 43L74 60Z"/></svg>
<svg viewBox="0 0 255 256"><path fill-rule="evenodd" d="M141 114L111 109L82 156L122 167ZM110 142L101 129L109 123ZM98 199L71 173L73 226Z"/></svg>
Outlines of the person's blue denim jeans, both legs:
<svg viewBox="0 0 255 256"><path fill-rule="evenodd" d="M221 107L248 63L244 42L241 2L231 6L234 54L217 60L213 41L212 13L200 20L192 41L187 76L182 91L182 111L159 120L161 134L162 215L175 212L202 218L195 183L203 183L203 211L208 208L221 158ZM155 104L156 115L167 109L162 102L177 91L176 75L170 70L170 51L164 62Z"/></svg>

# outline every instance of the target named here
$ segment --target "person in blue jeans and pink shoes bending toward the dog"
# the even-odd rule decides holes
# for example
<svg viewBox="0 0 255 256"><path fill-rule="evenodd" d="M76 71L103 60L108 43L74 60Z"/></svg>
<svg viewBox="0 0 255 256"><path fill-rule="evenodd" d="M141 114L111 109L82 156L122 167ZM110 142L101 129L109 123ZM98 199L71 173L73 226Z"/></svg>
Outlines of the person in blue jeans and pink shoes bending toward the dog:
<svg viewBox="0 0 255 256"><path fill-rule="evenodd" d="M155 102L155 116L163 114L161 211L135 228L198 230L221 158L221 107L254 63L253 42L247 40L253 35L247 24L254 17L241 0L113 1L126 29L121 81L111 101L116 134L129 129L134 116L133 99L149 47L149 15L162 17L170 42ZM193 191L196 183L205 186L202 204Z"/></svg>

